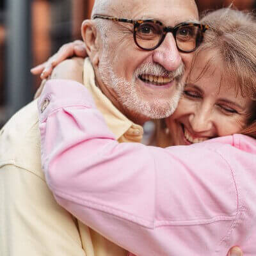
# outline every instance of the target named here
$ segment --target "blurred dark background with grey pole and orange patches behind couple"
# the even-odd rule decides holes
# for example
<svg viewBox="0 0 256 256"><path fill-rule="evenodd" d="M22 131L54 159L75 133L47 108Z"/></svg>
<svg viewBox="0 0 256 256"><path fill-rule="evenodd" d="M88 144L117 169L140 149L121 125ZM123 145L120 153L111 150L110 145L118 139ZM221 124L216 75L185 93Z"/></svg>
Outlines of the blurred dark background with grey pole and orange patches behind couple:
<svg viewBox="0 0 256 256"><path fill-rule="evenodd" d="M61 45L81 39L93 0L0 0L0 128L33 99L40 85L31 67L43 63ZM253 10L256 0L197 0L200 12L233 3Z"/></svg>

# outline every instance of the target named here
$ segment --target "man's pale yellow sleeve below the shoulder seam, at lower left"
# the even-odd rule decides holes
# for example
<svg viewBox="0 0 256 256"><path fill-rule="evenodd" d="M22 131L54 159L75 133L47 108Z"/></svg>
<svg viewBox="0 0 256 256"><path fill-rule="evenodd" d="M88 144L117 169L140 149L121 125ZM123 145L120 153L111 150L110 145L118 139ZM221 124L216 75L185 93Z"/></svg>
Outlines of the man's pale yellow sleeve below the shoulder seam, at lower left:
<svg viewBox="0 0 256 256"><path fill-rule="evenodd" d="M0 211L1 256L85 256L75 220L33 172L1 166Z"/></svg>

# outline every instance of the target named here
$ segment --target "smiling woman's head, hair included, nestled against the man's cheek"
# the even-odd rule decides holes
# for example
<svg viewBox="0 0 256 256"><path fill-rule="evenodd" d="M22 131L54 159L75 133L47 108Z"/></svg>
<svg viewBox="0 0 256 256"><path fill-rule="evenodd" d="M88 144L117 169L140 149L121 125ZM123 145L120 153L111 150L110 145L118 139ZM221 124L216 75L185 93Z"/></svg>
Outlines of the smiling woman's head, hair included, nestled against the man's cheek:
<svg viewBox="0 0 256 256"><path fill-rule="evenodd" d="M255 106L255 24L248 22L249 27L245 28L246 19L250 19L249 14L221 10L202 20L211 26L212 31L206 34L204 44L196 51L179 108L165 122L157 124L157 145L190 145L238 132L256 138L256 113L246 111L249 99L253 100L253 106L248 107L253 109ZM239 101L239 90L241 96L248 96L241 97L239 107L243 108L234 104ZM214 92L218 93L212 97ZM230 102L221 100L227 95ZM245 124L243 120L246 120ZM168 127L167 136L163 132L165 127Z"/></svg>

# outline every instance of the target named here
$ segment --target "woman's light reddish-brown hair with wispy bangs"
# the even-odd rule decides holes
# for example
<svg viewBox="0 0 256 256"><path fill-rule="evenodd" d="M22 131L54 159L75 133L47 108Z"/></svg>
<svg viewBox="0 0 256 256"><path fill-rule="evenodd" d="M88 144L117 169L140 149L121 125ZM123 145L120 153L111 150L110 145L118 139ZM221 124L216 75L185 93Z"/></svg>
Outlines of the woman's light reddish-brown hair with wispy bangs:
<svg viewBox="0 0 256 256"><path fill-rule="evenodd" d="M241 133L256 138L256 18L252 13L223 8L207 13L201 22L207 24L209 29L205 32L204 42L195 51L189 79L197 57L206 52L214 52L196 79L204 76L205 72L219 61L222 78L228 78L230 86L236 86L243 97L252 100L252 109ZM218 56L218 59L215 60L215 56ZM160 147L166 147L169 143L167 140L172 141L172 131L170 136L166 136L164 129L164 122L157 121L154 144Z"/></svg>

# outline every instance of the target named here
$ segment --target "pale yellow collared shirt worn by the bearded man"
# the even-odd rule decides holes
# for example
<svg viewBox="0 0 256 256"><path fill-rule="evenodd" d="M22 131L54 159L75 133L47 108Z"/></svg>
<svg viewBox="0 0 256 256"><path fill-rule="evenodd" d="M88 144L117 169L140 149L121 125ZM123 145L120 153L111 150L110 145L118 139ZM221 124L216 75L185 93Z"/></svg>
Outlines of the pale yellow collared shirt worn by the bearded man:
<svg viewBox="0 0 256 256"><path fill-rule="evenodd" d="M122 115L100 92L88 59L84 61L84 85L118 141L140 142L142 127ZM0 255L126 254L55 202L41 168L36 100L20 109L0 131Z"/></svg>

